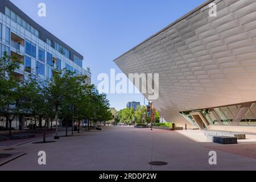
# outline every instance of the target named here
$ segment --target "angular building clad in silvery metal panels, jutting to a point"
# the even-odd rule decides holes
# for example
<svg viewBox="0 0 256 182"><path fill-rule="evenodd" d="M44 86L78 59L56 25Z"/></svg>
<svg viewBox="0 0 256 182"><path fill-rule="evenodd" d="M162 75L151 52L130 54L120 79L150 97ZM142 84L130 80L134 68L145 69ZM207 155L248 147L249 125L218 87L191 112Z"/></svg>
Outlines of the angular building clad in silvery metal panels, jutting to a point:
<svg viewBox="0 0 256 182"><path fill-rule="evenodd" d="M167 121L256 133L255 0L207 1L114 62L127 76L159 73L153 104Z"/></svg>

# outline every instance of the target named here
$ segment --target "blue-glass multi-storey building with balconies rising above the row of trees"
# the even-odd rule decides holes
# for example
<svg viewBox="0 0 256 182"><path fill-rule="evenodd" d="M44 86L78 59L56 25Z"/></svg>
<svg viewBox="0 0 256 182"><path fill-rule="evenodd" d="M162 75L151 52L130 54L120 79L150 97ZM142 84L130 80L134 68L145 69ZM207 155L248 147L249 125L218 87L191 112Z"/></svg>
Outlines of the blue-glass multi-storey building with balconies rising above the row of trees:
<svg viewBox="0 0 256 182"><path fill-rule="evenodd" d="M0 52L4 51L21 62L20 69L12 73L21 80L32 73L46 81L52 77L53 69L66 68L76 75L88 76L90 83L90 73L82 68L83 56L8 0L0 1Z"/></svg>

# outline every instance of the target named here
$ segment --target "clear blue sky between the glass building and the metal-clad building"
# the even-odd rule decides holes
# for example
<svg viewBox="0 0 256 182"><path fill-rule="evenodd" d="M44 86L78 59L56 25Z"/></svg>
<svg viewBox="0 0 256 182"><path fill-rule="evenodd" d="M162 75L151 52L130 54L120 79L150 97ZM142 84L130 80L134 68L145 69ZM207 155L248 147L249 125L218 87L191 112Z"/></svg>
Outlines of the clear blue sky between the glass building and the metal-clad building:
<svg viewBox="0 0 256 182"><path fill-rule="evenodd" d="M11 0L16 6L84 55L92 83L99 73L121 71L113 60L155 34L205 0ZM38 4L46 3L47 16L38 16ZM108 94L112 107L123 109L141 94Z"/></svg>

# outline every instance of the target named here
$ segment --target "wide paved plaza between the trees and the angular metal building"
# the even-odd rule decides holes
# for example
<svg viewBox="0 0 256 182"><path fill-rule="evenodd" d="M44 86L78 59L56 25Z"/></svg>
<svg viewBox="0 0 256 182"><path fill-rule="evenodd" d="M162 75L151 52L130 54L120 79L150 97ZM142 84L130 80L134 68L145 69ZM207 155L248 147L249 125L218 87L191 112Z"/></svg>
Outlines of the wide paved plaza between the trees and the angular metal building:
<svg viewBox="0 0 256 182"><path fill-rule="evenodd" d="M199 130L103 127L102 131L61 137L55 143L2 146L0 154L22 156L0 166L0 170L256 170L256 136L247 138L223 146L207 142ZM53 136L47 140L53 140ZM5 151L7 148L14 150ZM39 151L46 152L45 166L38 164ZM217 165L209 164L210 151L217 152ZM150 166L151 161L168 164Z"/></svg>

